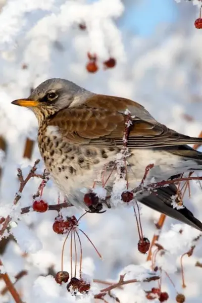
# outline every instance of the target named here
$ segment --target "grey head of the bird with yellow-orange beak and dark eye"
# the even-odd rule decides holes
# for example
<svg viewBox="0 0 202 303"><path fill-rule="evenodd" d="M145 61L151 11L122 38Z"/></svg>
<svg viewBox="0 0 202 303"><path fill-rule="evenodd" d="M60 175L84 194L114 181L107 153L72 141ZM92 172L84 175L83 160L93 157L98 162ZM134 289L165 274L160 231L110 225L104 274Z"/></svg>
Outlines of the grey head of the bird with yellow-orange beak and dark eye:
<svg viewBox="0 0 202 303"><path fill-rule="evenodd" d="M27 99L18 99L12 103L28 107L41 120L61 109L81 105L90 95L93 93L71 81L53 78L37 86Z"/></svg>

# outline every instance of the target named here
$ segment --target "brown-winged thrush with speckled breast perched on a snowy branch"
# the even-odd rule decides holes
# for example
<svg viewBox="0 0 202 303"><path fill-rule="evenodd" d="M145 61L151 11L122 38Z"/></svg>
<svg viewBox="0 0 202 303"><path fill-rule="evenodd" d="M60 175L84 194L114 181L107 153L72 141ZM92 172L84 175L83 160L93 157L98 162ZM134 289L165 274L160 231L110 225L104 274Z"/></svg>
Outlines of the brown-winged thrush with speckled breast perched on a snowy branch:
<svg viewBox="0 0 202 303"><path fill-rule="evenodd" d="M69 80L52 78L38 85L28 98L14 100L12 104L27 107L35 114L38 146L45 167L60 191L77 208L86 209L83 188L92 188L103 167L112 170L123 148L126 111L131 117L127 138L130 186L142 180L150 163L154 166L146 175L147 184L202 169L202 153L187 145L201 144L202 138L168 128L133 100L96 94ZM108 190L112 190L113 182L109 179ZM185 206L173 207L177 193L177 186L171 183L154 191L145 189L135 198L202 231L202 223Z"/></svg>

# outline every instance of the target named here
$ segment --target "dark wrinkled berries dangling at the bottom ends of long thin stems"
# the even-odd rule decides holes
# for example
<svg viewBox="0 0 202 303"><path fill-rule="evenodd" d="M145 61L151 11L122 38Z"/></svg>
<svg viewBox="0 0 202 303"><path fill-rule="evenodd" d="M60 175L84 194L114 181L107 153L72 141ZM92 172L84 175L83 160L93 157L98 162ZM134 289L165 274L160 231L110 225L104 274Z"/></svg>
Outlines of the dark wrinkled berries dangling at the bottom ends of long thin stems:
<svg viewBox="0 0 202 303"><path fill-rule="evenodd" d="M63 282L67 283L69 281L69 273L66 271L59 271L55 276L55 280L58 284L62 284ZM67 290L74 294L77 292L87 293L89 289L90 283L76 277L72 277L67 284Z"/></svg>

